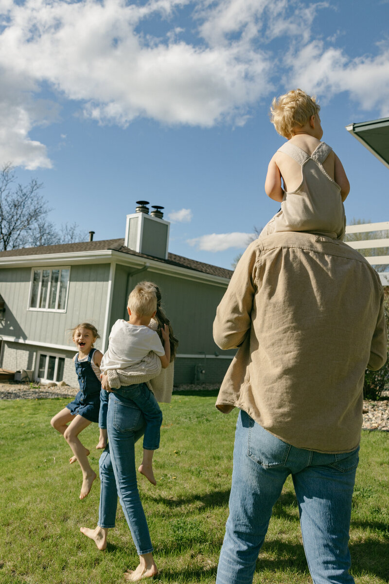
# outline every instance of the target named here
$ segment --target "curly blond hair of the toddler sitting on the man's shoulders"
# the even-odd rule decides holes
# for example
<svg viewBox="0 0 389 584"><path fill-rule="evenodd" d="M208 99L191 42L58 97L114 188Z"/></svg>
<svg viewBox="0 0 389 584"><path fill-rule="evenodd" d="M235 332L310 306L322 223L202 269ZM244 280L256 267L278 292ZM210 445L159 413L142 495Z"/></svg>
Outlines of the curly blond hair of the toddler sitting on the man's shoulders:
<svg viewBox="0 0 389 584"><path fill-rule="evenodd" d="M278 134L292 138L293 128L303 127L320 111L316 99L302 89L292 89L278 99L274 98L270 108L270 119Z"/></svg>

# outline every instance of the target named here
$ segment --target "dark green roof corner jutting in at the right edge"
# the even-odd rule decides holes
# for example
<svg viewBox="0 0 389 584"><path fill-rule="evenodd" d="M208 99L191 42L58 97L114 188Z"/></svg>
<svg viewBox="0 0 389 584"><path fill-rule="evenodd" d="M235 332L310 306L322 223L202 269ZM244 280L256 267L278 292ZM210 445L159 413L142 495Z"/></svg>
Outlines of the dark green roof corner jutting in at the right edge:
<svg viewBox="0 0 389 584"><path fill-rule="evenodd" d="M349 124L346 130L389 168L389 117Z"/></svg>

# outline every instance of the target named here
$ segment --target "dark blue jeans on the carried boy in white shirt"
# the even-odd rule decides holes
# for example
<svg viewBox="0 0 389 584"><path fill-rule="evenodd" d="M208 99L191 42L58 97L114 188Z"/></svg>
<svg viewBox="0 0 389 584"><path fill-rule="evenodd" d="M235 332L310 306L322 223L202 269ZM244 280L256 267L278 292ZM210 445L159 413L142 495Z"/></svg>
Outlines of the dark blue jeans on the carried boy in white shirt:
<svg viewBox="0 0 389 584"><path fill-rule="evenodd" d="M154 397L145 383L127 385L118 390L114 390L115 395L121 395L126 399L131 399L141 409L146 420L145 435L143 436L143 448L145 450L156 450L159 448L160 427L162 425L162 412ZM101 389L100 391L100 411L99 427L107 427L108 398L110 392Z"/></svg>

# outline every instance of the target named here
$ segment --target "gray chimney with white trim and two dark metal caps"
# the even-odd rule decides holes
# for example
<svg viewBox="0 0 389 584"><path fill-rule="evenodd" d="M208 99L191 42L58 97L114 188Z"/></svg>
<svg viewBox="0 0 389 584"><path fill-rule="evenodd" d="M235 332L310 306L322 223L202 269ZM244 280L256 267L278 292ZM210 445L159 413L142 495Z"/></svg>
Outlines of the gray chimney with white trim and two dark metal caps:
<svg viewBox="0 0 389 584"><path fill-rule="evenodd" d="M149 215L149 201L136 201L136 204L136 213L127 215L124 245L139 253L167 259L170 223L162 219L163 207L154 205L155 210Z"/></svg>

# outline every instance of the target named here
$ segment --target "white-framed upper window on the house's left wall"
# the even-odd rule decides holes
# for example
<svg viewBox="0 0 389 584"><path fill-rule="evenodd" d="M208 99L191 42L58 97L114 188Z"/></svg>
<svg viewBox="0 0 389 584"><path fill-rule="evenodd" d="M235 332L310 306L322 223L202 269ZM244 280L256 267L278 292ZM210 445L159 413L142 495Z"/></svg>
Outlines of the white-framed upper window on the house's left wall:
<svg viewBox="0 0 389 584"><path fill-rule="evenodd" d="M69 267L33 270L29 308L65 312L69 276Z"/></svg>

